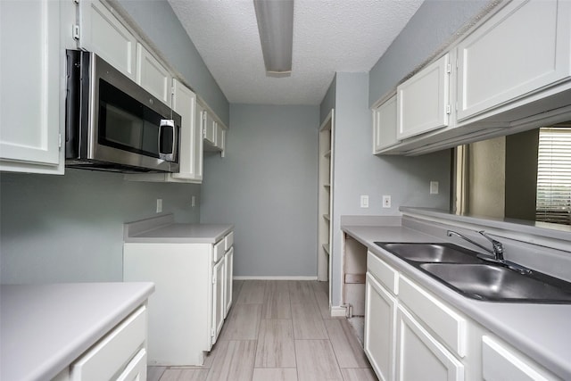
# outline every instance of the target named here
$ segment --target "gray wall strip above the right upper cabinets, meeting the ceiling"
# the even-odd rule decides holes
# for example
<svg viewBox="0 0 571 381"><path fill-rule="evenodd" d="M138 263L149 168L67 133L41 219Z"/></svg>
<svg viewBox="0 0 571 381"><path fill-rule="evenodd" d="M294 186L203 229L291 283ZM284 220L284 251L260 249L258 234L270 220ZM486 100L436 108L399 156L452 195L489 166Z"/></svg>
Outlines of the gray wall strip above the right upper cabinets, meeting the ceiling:
<svg viewBox="0 0 571 381"><path fill-rule="evenodd" d="M392 91L488 4L484 0L426 0L370 70L368 104Z"/></svg>

